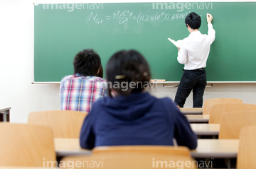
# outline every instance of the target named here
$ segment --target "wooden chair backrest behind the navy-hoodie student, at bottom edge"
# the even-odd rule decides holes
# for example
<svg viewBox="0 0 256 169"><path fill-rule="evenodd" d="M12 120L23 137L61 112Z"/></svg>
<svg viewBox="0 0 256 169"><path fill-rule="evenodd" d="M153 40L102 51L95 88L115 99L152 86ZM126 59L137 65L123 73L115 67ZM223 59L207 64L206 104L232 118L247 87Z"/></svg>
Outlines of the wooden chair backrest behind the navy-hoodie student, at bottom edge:
<svg viewBox="0 0 256 169"><path fill-rule="evenodd" d="M159 148L159 151L157 151L157 148ZM167 151L164 151L164 148ZM174 151L171 151L171 149ZM68 161L71 161L70 163L87 161L88 163L85 163L85 165L90 165L93 161L93 163L97 163L105 169L181 168L181 166L182 168L197 168L186 147L111 146L95 148L92 151L92 156L70 156L63 158L61 161L64 164L68 163ZM67 166L60 167L68 168ZM87 168L87 166L82 166L82 168Z"/></svg>

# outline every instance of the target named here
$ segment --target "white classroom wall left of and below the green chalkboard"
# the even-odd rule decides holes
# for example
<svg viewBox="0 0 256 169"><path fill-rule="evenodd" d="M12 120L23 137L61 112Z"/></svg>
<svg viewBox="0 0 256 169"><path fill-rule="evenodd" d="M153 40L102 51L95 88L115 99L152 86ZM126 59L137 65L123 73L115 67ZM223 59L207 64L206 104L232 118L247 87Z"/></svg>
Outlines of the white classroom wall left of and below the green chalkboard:
<svg viewBox="0 0 256 169"><path fill-rule="evenodd" d="M0 1L0 107L11 107L11 122L27 122L29 112L60 109L58 84L32 84L33 2L53 3L47 0ZM54 2L88 3L89 1L55 0ZM176 84L168 86L176 86ZM150 92L159 98L173 99L176 89L158 84ZM206 88L204 99L208 98L240 98L244 103L256 104L256 83L213 83L213 87ZM191 106L190 95L185 107Z"/></svg>

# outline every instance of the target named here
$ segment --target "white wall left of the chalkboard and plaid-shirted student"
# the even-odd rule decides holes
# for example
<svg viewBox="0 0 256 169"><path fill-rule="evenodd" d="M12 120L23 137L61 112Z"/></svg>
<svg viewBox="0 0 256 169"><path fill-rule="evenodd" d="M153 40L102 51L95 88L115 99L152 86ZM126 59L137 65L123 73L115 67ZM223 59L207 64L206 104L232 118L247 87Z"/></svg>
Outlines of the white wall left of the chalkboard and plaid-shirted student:
<svg viewBox="0 0 256 169"><path fill-rule="evenodd" d="M0 107L11 106L11 122L26 122L29 112L58 110L58 85L31 84L33 2L2 0L0 18Z"/></svg>

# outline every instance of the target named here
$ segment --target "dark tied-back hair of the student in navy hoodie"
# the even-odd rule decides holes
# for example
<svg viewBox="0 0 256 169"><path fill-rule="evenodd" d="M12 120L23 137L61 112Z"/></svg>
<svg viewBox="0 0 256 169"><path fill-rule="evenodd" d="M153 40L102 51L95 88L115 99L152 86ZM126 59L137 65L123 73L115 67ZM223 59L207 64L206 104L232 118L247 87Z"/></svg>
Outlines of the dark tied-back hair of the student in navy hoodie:
<svg viewBox="0 0 256 169"><path fill-rule="evenodd" d="M151 78L146 59L133 49L116 52L107 62L106 74L110 97L112 97L111 88L117 95L124 96L142 92L144 88L149 87ZM126 88L122 88L124 83ZM120 87L114 87L114 84L119 84Z"/></svg>

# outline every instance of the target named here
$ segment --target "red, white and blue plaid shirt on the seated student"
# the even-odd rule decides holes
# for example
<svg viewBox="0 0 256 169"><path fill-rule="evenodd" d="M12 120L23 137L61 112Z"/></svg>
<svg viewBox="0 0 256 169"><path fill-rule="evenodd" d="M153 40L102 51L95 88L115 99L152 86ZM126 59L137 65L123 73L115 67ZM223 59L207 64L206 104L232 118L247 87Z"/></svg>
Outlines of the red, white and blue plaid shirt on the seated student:
<svg viewBox="0 0 256 169"><path fill-rule="evenodd" d="M92 103L107 95L107 81L97 76L65 76L60 82L61 110L90 112Z"/></svg>

